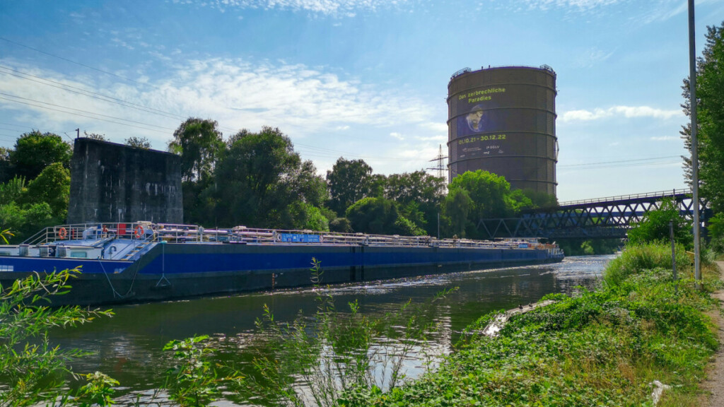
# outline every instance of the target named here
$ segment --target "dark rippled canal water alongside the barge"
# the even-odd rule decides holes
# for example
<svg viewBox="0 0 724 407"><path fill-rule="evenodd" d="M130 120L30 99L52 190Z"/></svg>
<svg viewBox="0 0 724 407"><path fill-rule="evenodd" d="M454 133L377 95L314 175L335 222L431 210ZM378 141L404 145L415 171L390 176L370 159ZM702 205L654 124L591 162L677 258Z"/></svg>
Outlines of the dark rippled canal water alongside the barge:
<svg viewBox="0 0 724 407"><path fill-rule="evenodd" d="M337 309L357 301L369 316L399 310L405 303L424 303L445 289L457 288L434 308L439 330L434 332L428 352L450 352L461 331L490 311L512 309L538 301L548 293L574 293L581 287L595 288L613 256L568 257L560 264L521 268L437 274L379 282L335 285L315 290L277 290L188 301L146 303L113 308L115 316L101 318L82 327L54 330L52 338L62 347L80 348L93 354L72 365L75 372L104 372L121 383L126 398L152 392L164 382L169 340L209 335L218 348L248 342L256 319L266 304L279 322L298 314L313 315L320 294L331 295ZM243 345L236 346L237 364L245 364ZM225 352L228 355L228 352ZM424 371L419 361L405 364L408 377ZM235 406L221 402L219 406Z"/></svg>

